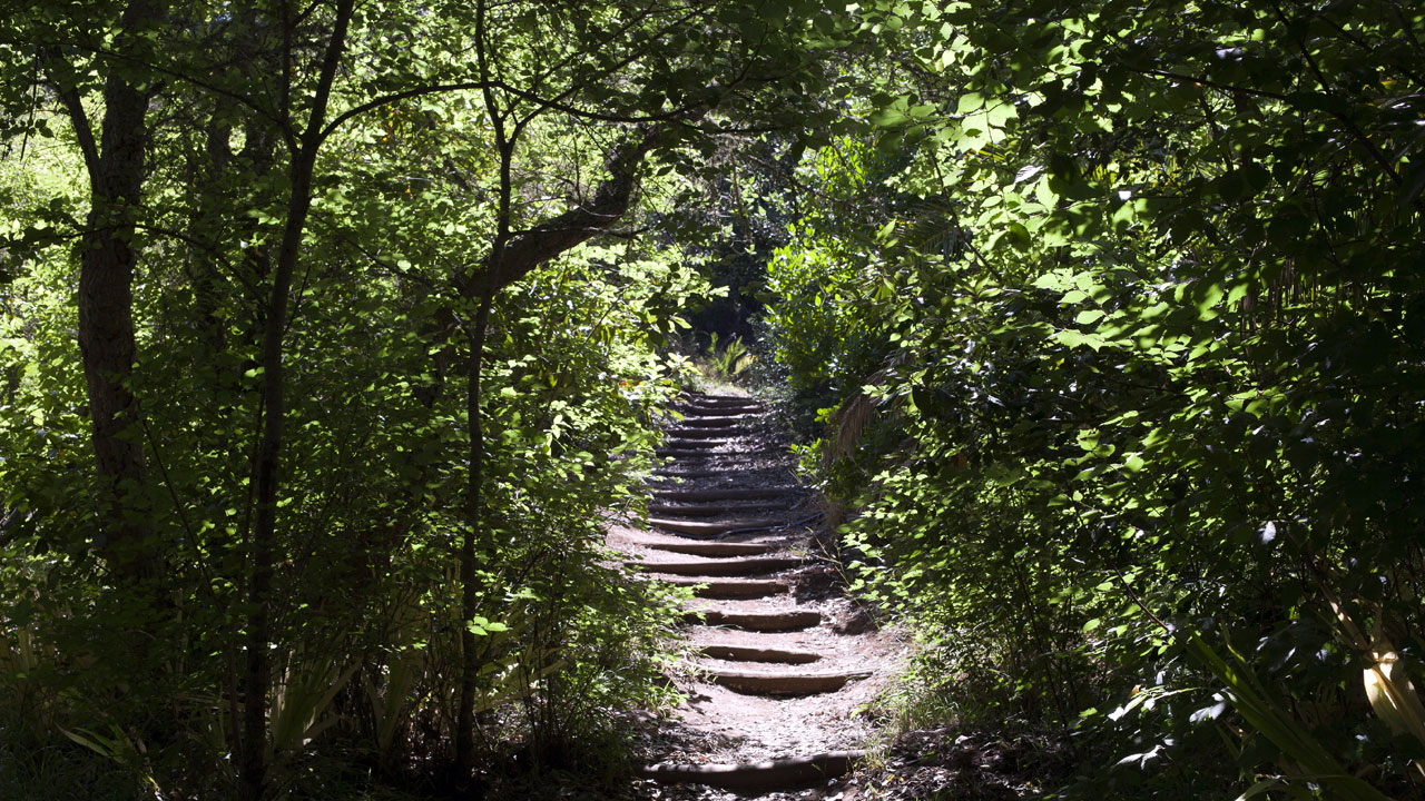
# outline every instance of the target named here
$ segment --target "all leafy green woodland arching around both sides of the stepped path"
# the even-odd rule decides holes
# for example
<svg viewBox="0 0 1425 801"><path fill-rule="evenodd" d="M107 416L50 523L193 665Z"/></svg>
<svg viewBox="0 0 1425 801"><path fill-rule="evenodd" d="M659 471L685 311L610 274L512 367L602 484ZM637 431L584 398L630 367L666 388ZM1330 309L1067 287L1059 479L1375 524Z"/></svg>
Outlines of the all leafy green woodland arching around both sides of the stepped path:
<svg viewBox="0 0 1425 801"><path fill-rule="evenodd" d="M0 795L617 761L603 520L734 331L888 731L1419 794L1409 4L0 11Z"/></svg>

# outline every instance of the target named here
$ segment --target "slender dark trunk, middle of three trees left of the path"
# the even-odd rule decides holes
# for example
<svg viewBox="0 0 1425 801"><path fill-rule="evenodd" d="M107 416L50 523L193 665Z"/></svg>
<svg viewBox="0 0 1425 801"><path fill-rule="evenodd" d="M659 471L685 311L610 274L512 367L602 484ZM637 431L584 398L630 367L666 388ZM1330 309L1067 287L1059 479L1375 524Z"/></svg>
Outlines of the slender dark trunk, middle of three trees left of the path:
<svg viewBox="0 0 1425 801"><path fill-rule="evenodd" d="M252 526L252 577L248 582L248 653L244 674L242 754L239 791L245 801L259 801L266 787L266 693L272 680L272 574L276 564L276 500L282 452L285 396L282 383L282 334L286 329L288 295L302 247L306 215L312 207L312 172L322 145L322 124L332 83L346 47L346 27L355 0L341 0L322 73L289 172L291 195L286 225L278 248L272 294L268 298L262 332L262 439L256 459L256 515ZM289 24L284 20L284 24Z"/></svg>

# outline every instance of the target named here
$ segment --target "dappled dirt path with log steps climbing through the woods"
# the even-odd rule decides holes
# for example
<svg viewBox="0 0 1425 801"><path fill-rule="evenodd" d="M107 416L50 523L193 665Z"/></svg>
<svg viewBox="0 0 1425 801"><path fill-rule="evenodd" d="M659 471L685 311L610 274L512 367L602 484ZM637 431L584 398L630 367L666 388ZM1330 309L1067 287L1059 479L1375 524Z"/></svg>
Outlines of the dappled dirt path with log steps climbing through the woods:
<svg viewBox="0 0 1425 801"><path fill-rule="evenodd" d="M613 527L634 572L697 586L675 678L687 703L643 743L650 797L851 798L859 714L901 647L842 593L814 543L819 516L767 409L735 395L673 408L654 476L651 532Z"/></svg>

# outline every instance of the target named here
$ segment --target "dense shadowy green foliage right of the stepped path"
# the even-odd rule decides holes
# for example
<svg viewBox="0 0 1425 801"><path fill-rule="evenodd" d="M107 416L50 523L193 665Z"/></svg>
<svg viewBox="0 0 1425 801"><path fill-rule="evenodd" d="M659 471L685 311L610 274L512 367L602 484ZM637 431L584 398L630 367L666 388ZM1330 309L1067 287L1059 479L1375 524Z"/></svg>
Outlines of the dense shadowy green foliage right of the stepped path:
<svg viewBox="0 0 1425 801"><path fill-rule="evenodd" d="M1425 14L862 6L767 322L922 703L1139 797L1416 794Z"/></svg>

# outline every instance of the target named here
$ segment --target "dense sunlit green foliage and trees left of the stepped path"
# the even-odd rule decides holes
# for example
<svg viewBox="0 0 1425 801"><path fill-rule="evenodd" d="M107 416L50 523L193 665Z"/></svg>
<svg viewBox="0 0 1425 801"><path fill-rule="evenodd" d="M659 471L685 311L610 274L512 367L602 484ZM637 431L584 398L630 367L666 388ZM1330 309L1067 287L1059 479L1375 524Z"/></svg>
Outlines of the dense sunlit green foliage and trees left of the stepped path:
<svg viewBox="0 0 1425 801"><path fill-rule="evenodd" d="M665 703L603 523L715 292L638 232L815 13L4 4L0 795L463 791Z"/></svg>

